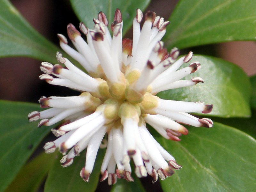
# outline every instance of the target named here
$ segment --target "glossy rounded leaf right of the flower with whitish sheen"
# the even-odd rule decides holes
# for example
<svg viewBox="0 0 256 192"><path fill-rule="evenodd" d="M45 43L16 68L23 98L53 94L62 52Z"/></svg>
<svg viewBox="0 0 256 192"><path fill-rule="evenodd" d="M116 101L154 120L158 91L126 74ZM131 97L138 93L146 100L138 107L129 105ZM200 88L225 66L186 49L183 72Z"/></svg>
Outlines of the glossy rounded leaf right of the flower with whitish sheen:
<svg viewBox="0 0 256 192"><path fill-rule="evenodd" d="M213 104L210 116L249 117L251 84L244 71L228 61L208 56L194 56L202 68L184 79L198 76L204 83L160 92L159 97L169 100L204 101ZM186 67L188 65L183 65ZM204 114L205 116L205 114Z"/></svg>

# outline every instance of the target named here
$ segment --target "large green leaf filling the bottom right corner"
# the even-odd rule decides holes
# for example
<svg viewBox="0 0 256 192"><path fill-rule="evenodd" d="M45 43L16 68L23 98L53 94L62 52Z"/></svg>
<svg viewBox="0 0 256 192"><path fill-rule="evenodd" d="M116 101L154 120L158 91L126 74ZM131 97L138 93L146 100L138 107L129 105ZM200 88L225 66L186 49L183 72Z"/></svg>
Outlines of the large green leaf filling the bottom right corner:
<svg viewBox="0 0 256 192"><path fill-rule="evenodd" d="M167 191L254 191L256 141L235 128L189 128L180 142L158 139L183 167L161 182Z"/></svg>

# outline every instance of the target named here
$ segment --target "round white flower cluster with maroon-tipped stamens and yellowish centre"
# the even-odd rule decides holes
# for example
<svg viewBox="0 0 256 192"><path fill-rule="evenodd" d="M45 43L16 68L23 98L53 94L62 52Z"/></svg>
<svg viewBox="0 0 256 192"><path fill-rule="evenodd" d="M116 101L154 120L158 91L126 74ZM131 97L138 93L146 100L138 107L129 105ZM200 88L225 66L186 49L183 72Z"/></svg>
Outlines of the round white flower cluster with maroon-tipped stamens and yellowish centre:
<svg viewBox="0 0 256 192"><path fill-rule="evenodd" d="M103 12L93 19L94 29L80 23L80 32L68 24L68 36L76 50L68 45L65 36L58 34L60 47L78 61L88 73L73 65L60 52L57 60L62 65L42 62L44 72L40 79L49 84L66 86L81 92L74 97L45 97L39 100L44 111L33 111L29 121L42 119L38 126L50 126L63 120L58 129L52 129L58 137L45 144L46 153L56 148L64 155L60 160L63 167L72 164L75 156L87 148L85 167L80 175L89 181L98 149L107 147L102 165L101 181L108 178L108 184L115 184L117 178L133 181L130 161L135 164L137 177L147 174L156 181L171 176L173 169L181 166L153 138L146 123L156 129L164 138L179 141L188 130L181 124L196 127L212 127L212 120L199 119L188 113L209 113L212 105L204 102L163 100L158 92L178 87L203 83L200 77L180 80L201 68L199 62L189 61L193 53L178 59L179 50L171 52L160 41L169 21L148 11L145 22L138 9L133 20L133 38L122 40L123 20L119 9L111 24L113 37L108 30L108 20ZM181 65L188 65L179 69ZM181 124L180 124L181 123ZM117 168L116 168L117 167Z"/></svg>

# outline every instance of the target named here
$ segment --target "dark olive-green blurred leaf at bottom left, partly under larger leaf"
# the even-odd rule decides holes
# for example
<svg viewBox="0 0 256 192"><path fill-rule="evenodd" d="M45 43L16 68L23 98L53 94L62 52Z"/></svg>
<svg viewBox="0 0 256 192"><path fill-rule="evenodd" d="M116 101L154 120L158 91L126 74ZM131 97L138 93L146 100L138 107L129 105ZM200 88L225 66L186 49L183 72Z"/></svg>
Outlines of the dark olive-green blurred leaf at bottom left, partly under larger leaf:
<svg viewBox="0 0 256 192"><path fill-rule="evenodd" d="M5 192L37 192L54 163L55 156L56 153L45 152L36 156L20 170Z"/></svg>

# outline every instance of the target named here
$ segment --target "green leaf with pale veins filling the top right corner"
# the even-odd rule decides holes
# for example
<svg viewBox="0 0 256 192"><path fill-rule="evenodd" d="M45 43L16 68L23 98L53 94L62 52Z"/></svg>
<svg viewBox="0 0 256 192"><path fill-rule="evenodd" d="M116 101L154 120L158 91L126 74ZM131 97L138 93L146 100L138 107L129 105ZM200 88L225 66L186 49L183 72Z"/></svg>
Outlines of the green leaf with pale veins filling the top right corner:
<svg viewBox="0 0 256 192"><path fill-rule="evenodd" d="M202 44L255 40L256 1L181 0L164 41L180 49Z"/></svg>

